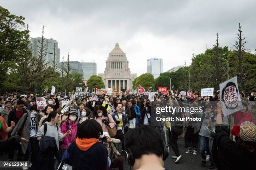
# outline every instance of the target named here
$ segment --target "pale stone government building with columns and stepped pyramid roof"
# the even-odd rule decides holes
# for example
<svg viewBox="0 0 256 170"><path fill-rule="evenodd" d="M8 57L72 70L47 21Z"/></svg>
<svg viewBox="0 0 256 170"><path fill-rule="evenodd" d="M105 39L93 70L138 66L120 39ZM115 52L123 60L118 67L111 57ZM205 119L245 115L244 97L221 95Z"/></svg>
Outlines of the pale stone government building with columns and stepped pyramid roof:
<svg viewBox="0 0 256 170"><path fill-rule="evenodd" d="M129 61L125 53L116 43L114 49L109 53L106 67L103 74L98 74L106 88L115 88L116 90L132 90L133 80L137 74L131 74Z"/></svg>

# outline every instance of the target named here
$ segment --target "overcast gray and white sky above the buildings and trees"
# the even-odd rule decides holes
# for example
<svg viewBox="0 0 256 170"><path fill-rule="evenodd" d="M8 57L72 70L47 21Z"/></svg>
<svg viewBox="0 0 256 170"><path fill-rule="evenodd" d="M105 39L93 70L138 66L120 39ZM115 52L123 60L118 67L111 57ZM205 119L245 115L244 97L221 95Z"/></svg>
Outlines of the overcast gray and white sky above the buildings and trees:
<svg viewBox="0 0 256 170"><path fill-rule="evenodd" d="M220 35L221 46L235 42L238 23L246 48L256 49L255 0L2 0L10 13L22 15L31 37L58 41L60 56L97 63L103 73L108 53L118 42L132 73L147 71L147 59L163 58L163 71L191 63Z"/></svg>

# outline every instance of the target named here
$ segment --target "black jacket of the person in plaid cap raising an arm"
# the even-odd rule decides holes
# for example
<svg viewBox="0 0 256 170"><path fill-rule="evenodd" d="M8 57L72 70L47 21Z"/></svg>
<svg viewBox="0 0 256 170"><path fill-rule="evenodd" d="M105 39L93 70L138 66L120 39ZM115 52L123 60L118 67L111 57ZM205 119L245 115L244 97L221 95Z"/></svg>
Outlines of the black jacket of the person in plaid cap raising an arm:
<svg viewBox="0 0 256 170"><path fill-rule="evenodd" d="M229 138L228 127L215 126L212 155L218 170L249 170L256 167L256 150L250 152Z"/></svg>

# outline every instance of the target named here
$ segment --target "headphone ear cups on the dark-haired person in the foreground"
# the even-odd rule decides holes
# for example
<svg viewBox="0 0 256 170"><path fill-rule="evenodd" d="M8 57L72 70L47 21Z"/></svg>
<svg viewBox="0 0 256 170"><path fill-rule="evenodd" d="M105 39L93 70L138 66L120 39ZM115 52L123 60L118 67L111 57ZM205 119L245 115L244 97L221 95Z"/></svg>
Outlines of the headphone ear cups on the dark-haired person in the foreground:
<svg viewBox="0 0 256 170"><path fill-rule="evenodd" d="M162 148L163 148L163 160L166 160L169 156L169 147L163 142L162 143ZM131 152L131 149L130 148L127 148L127 150L125 150L125 161L133 166L134 165L134 162L135 162L135 159L133 157L133 153Z"/></svg>

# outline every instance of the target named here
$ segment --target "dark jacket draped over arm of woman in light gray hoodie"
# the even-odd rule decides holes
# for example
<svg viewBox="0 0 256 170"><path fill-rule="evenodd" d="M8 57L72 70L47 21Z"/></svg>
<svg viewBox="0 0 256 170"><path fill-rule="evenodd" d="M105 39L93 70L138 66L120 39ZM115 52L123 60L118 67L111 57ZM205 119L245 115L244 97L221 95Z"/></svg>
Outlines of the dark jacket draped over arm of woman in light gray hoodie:
<svg viewBox="0 0 256 170"><path fill-rule="evenodd" d="M54 170L54 156L60 163L61 156L55 138L42 136L36 161L32 164L31 170Z"/></svg>

